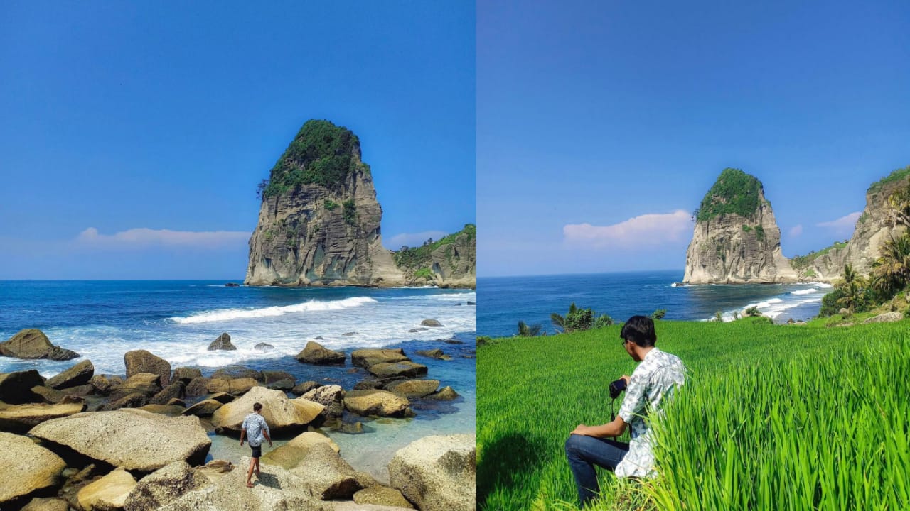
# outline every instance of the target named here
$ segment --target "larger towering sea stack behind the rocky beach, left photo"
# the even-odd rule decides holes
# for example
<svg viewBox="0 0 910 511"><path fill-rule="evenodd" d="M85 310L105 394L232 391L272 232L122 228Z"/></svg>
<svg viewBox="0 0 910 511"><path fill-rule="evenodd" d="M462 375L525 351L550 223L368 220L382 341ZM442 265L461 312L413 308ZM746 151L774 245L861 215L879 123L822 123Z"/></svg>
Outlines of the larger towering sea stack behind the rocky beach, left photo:
<svg viewBox="0 0 910 511"><path fill-rule="evenodd" d="M248 286L405 284L382 246L382 208L360 141L347 128L308 121L259 191Z"/></svg>

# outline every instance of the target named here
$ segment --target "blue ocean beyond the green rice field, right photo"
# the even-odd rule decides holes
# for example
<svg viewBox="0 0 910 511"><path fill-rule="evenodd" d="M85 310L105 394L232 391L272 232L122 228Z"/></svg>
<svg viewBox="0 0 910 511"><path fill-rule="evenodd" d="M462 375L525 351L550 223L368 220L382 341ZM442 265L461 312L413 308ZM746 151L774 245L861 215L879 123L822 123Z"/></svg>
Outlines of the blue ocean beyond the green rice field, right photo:
<svg viewBox="0 0 910 511"><path fill-rule="evenodd" d="M701 321L720 311L729 321L734 311L757 306L775 323L784 323L817 316L822 296L831 287L822 283L674 286L682 275L680 270L479 278L477 331L480 336L512 336L518 322L524 321L555 333L551 313L565 316L572 302L616 322L650 316L657 309L666 309L666 319Z"/></svg>

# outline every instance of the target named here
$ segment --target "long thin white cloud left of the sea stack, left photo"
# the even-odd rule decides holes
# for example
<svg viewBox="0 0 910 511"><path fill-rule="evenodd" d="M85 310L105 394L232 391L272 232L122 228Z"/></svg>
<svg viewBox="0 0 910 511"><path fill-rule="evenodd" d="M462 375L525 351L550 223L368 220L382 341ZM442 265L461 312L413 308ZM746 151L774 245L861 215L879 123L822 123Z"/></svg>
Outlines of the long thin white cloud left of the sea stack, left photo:
<svg viewBox="0 0 910 511"><path fill-rule="evenodd" d="M147 229L145 227L120 231L113 235L102 235L95 227L79 233L76 243L87 246L105 247L147 247L184 246L214 248L245 243L249 233L244 231L172 231L170 229Z"/></svg>

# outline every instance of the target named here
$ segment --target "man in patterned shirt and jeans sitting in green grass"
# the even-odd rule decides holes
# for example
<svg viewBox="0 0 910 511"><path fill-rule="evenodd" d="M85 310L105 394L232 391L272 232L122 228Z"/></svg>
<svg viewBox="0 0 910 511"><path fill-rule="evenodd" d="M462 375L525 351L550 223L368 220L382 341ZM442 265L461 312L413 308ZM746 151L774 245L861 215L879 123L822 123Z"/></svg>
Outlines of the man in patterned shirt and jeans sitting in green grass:
<svg viewBox="0 0 910 511"><path fill-rule="evenodd" d="M673 388L685 380L682 360L654 347L657 335L650 317L630 317L622 326L620 337L626 353L641 364L632 377L622 376L627 386L619 415L602 426L580 424L566 440L566 457L575 476L581 506L600 491L595 465L614 471L617 477L655 475L651 430L646 419L660 410L663 396L672 396ZM626 426L632 426L632 442L607 439L622 435Z"/></svg>

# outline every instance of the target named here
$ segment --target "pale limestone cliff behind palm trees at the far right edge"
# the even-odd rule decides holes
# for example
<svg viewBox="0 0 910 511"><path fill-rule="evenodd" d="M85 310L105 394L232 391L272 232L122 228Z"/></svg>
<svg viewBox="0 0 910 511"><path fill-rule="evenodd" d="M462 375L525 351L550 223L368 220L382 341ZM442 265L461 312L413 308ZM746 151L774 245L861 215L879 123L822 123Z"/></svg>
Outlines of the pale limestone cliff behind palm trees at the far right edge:
<svg viewBox="0 0 910 511"><path fill-rule="evenodd" d="M853 266L857 274L868 276L879 256L879 247L892 236L905 232L895 224L895 213L889 198L906 188L910 167L897 169L875 182L865 192L865 208L856 221L854 234L845 243L835 243L814 254L794 257L793 266L806 279L833 281L844 273L844 265Z"/></svg>

